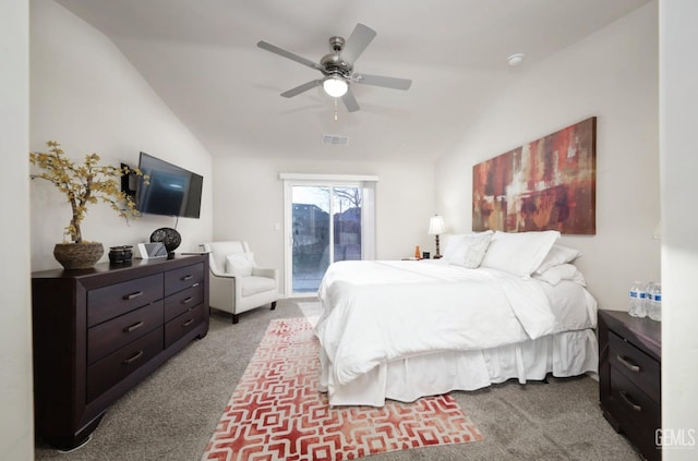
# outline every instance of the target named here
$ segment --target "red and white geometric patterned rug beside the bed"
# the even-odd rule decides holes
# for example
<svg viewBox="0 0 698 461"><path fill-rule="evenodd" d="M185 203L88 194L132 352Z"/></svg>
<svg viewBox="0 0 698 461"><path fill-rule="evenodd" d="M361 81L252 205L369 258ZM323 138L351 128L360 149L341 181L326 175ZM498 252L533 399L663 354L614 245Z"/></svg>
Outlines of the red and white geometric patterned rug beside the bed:
<svg viewBox="0 0 698 461"><path fill-rule="evenodd" d="M354 460L482 439L450 396L330 409L318 351L305 318L272 320L202 460Z"/></svg>

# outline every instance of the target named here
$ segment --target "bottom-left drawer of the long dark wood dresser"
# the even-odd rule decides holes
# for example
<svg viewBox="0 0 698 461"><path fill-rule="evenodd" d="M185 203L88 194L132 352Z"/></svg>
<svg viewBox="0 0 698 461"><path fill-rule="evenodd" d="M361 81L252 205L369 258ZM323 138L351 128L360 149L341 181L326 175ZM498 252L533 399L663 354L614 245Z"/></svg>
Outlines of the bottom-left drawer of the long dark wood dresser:
<svg viewBox="0 0 698 461"><path fill-rule="evenodd" d="M124 345L87 367L87 401L145 365L163 351L163 327Z"/></svg>

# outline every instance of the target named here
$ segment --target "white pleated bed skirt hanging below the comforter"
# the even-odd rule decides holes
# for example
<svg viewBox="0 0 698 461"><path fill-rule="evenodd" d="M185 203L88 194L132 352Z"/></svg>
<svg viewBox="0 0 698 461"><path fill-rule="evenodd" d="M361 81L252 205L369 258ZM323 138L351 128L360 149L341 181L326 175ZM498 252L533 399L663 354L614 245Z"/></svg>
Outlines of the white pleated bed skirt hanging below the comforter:
<svg viewBox="0 0 698 461"><path fill-rule="evenodd" d="M324 360L323 360L324 359ZM412 402L452 390L476 390L517 378L519 383L598 373L599 345L593 329L563 331L535 340L478 351L446 351L400 359L376 366L353 381L328 385L321 359L321 389L329 404L383 407L386 399Z"/></svg>

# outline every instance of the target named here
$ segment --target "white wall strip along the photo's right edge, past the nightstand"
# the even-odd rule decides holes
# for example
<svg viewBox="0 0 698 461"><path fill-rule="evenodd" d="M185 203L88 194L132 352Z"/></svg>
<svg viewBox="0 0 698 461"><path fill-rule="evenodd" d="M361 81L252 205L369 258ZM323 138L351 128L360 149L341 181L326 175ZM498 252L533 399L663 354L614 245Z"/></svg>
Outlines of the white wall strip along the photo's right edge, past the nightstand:
<svg viewBox="0 0 698 461"><path fill-rule="evenodd" d="M698 2L660 1L662 190L662 425L693 444L663 451L664 460L698 459ZM689 441L687 439L687 441Z"/></svg>

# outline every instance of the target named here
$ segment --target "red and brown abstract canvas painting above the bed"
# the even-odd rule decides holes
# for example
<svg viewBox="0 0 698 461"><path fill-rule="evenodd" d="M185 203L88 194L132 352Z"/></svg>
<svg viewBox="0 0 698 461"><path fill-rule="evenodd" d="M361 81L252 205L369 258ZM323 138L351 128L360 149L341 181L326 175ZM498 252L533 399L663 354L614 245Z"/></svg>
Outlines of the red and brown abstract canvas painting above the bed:
<svg viewBox="0 0 698 461"><path fill-rule="evenodd" d="M472 230L595 234L597 118L472 170Z"/></svg>

